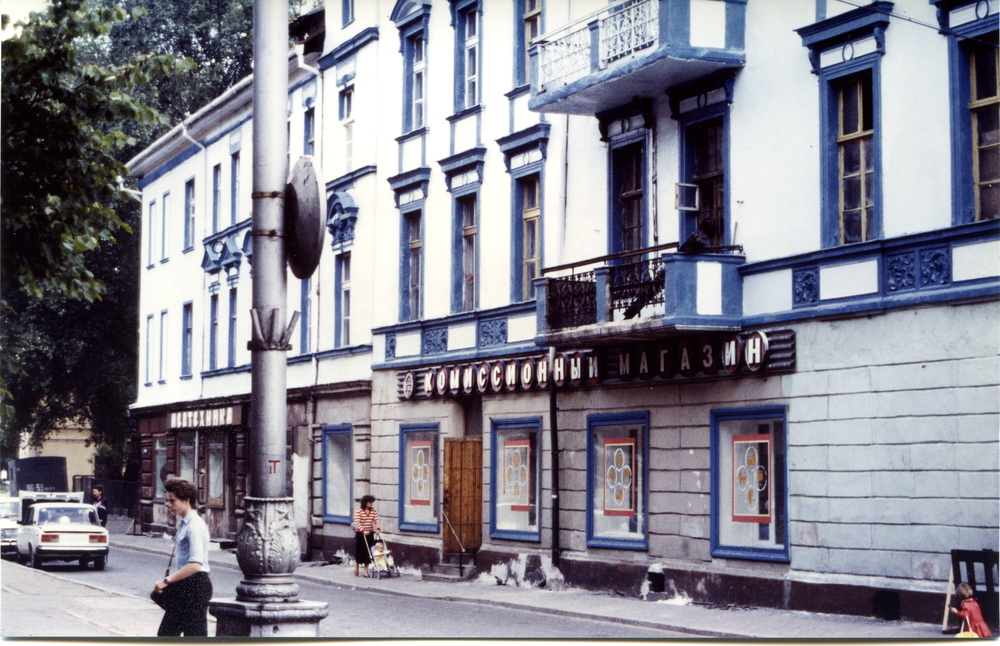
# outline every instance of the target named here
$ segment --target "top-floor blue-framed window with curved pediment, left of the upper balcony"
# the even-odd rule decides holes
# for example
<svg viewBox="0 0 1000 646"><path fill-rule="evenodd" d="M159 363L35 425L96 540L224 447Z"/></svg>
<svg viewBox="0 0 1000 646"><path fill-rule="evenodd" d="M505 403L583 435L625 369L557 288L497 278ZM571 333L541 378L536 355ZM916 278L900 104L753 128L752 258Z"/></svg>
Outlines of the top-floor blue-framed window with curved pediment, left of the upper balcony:
<svg viewBox="0 0 1000 646"><path fill-rule="evenodd" d="M427 125L427 35L430 0L397 2L391 19L403 53L403 132Z"/></svg>

